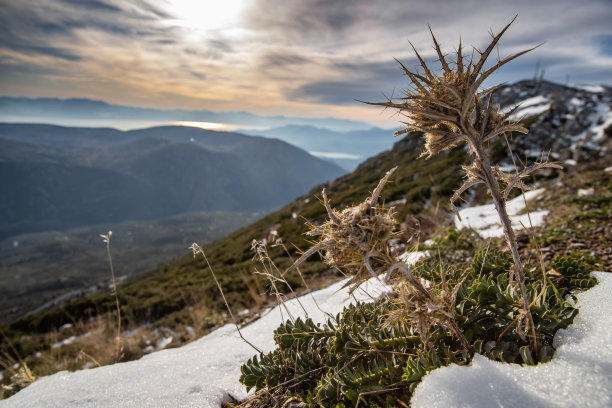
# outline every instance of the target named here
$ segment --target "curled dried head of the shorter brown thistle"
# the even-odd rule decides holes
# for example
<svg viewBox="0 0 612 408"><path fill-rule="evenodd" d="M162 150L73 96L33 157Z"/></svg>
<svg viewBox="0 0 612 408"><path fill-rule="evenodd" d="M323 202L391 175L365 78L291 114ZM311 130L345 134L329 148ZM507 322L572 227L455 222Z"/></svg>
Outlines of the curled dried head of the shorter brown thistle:
<svg viewBox="0 0 612 408"><path fill-rule="evenodd" d="M346 284L351 293L366 280L386 273L389 265L396 262L391 254L390 241L397 233L394 232L392 210L379 206L378 199L396 169L394 167L385 174L364 202L342 212L331 208L323 189L323 204L329 220L321 225L308 224L310 231L306 234L320 237L319 242L304 252L288 270L298 267L315 252L325 251L325 263L351 277Z"/></svg>

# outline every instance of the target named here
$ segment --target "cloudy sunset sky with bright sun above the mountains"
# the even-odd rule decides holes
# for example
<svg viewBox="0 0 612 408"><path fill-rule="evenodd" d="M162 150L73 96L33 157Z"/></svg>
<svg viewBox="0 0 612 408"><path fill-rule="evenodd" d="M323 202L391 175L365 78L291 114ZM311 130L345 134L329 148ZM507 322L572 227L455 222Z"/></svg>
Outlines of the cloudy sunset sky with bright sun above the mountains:
<svg viewBox="0 0 612 408"><path fill-rule="evenodd" d="M338 117L394 126L381 101L408 84L412 42L434 61L544 43L491 81L612 85L611 0L0 0L0 96ZM493 59L491 61L494 61Z"/></svg>

